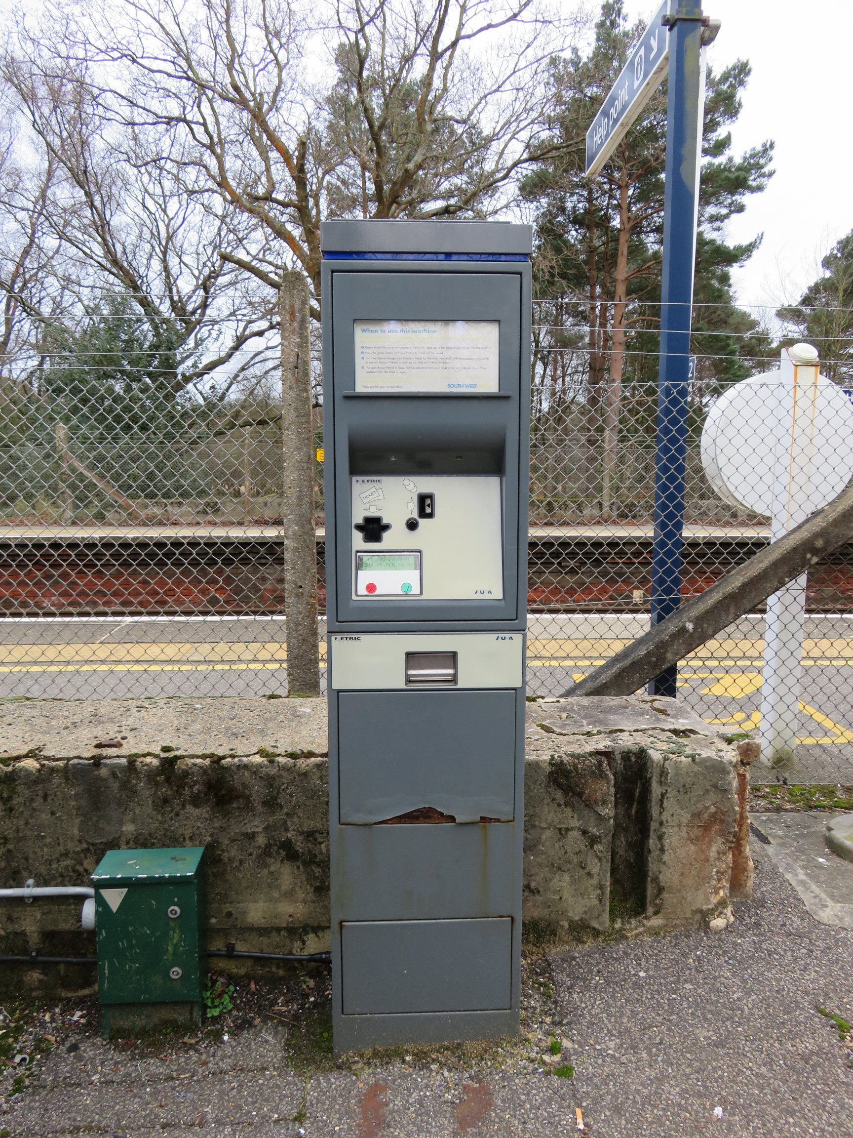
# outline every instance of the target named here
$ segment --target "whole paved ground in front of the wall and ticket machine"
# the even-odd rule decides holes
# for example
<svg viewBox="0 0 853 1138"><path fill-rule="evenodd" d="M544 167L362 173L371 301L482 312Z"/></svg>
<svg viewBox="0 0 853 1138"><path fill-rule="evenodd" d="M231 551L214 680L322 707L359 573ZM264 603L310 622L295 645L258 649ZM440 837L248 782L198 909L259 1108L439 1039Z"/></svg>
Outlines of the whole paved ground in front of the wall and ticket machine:
<svg viewBox="0 0 853 1138"><path fill-rule="evenodd" d="M754 856L726 932L529 951L517 1042L336 1062L321 967L181 1038L103 1044L92 999L7 1007L0 1138L563 1138L575 1108L607 1138L853 1135L853 933Z"/></svg>

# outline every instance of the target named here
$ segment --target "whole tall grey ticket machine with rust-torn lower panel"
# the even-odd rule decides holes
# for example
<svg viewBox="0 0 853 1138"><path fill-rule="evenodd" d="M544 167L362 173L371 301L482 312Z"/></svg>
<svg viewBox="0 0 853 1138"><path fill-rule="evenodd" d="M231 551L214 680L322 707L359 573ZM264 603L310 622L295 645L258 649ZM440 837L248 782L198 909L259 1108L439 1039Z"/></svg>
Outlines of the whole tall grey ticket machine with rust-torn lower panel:
<svg viewBox="0 0 853 1138"><path fill-rule="evenodd" d="M519 1029L527 225L322 225L338 1052Z"/></svg>

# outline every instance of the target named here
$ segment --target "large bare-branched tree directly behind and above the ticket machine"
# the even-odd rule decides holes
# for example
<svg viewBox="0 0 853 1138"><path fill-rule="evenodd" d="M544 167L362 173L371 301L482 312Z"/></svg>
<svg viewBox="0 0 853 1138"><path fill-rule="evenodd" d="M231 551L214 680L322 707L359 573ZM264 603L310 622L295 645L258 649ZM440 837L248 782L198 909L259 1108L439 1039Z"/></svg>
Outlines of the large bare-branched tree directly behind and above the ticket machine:
<svg viewBox="0 0 853 1138"><path fill-rule="evenodd" d="M516 171L564 146L539 124L565 26L553 34L535 0L339 0L318 15L296 0L126 0L123 11L106 36L90 22L81 50L97 40L101 63L132 75L103 98L132 126L156 123L185 142L175 166L188 184L206 181L263 226L249 255L220 255L281 297L285 423L304 426L310 398L287 370L299 351L288 337L304 331L285 315L299 303L288 271L307 278L318 319L324 216L487 215ZM307 503L313 479L310 448L288 448L285 487ZM303 521L285 527L285 561L307 572L315 536ZM289 613L315 591L291 576ZM289 620L292 659L308 659L310 644L296 641L316 641L308 625Z"/></svg>

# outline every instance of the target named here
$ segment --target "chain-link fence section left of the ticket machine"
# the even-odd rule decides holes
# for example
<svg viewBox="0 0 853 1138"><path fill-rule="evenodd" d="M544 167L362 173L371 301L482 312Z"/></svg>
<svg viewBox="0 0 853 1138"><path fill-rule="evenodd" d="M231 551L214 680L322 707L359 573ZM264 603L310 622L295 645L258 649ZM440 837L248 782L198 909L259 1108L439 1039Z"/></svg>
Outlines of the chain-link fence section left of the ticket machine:
<svg viewBox="0 0 853 1138"><path fill-rule="evenodd" d="M100 386L0 402L0 694L287 691L280 396Z"/></svg>

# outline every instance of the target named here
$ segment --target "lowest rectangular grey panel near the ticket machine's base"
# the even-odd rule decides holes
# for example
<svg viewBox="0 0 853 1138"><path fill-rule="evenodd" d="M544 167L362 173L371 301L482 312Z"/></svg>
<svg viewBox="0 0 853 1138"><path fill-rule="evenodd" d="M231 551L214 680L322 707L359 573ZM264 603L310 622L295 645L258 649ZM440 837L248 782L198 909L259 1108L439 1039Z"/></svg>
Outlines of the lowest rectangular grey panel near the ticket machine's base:
<svg viewBox="0 0 853 1138"><path fill-rule="evenodd" d="M371 921L341 926L343 1015L508 1011L512 921Z"/></svg>

